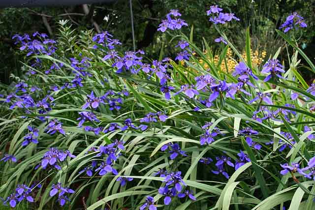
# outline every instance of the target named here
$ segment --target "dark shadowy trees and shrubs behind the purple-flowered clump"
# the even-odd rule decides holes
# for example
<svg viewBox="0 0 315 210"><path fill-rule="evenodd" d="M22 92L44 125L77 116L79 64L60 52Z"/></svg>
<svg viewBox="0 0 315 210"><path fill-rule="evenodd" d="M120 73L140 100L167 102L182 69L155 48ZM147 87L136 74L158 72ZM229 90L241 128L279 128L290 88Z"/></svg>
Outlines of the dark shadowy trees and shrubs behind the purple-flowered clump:
<svg viewBox="0 0 315 210"><path fill-rule="evenodd" d="M315 0L218 0L217 4L224 11L233 12L241 19L236 24L227 26L226 33L234 44L245 46L245 30L250 27L252 49L266 50L267 56L275 53L284 41L275 29L284 22L292 11L306 19L308 28L303 30L299 45L311 60L315 58ZM136 48L146 51L150 58L158 58L159 50L164 45L164 55L173 54L172 37L167 33L157 32L158 24L169 9L177 8L182 13L189 27L193 26L193 41L202 48L202 38L209 41L218 37L208 21L205 11L215 4L209 0L133 0L134 29ZM80 30L107 30L120 39L125 50L132 49L130 7L128 0L116 0L111 3L99 3L88 6L41 7L41 8L4 8L0 9L0 82L9 84L10 74L20 74L21 63L18 49L11 37L16 33L46 32L50 37L58 34L58 21L69 19L72 27ZM188 28L183 32L188 32ZM188 34L188 33L186 33ZM284 52L286 53L286 52ZM286 58L283 58L286 59ZM303 60L302 60L303 63ZM302 71L305 79L311 83L313 75Z"/></svg>

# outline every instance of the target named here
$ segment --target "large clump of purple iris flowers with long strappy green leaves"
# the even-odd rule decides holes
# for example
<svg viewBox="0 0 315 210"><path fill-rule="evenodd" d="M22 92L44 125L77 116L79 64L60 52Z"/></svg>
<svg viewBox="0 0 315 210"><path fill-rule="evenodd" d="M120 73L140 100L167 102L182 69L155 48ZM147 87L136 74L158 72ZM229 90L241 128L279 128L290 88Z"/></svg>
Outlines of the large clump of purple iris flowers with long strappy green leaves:
<svg viewBox="0 0 315 210"><path fill-rule="evenodd" d="M205 55L180 32L189 26L175 9L158 27L174 33L175 58L121 52L109 32L76 32L67 21L56 40L15 35L25 74L1 98L3 203L312 210L315 86L298 73L298 54L315 66L295 37L304 19L292 13L286 34L277 30L295 49L288 64L279 49L253 65L249 29L246 61L222 30L242 20L217 5L207 15L219 60L207 41ZM221 69L229 47L240 60L232 73Z"/></svg>

